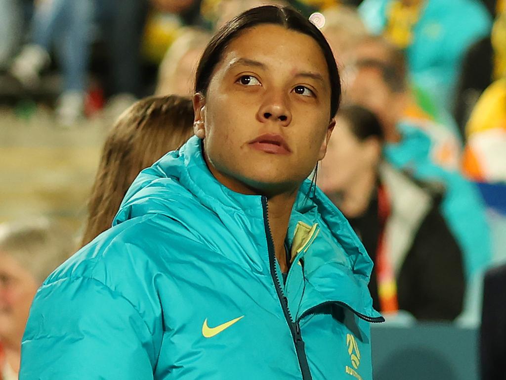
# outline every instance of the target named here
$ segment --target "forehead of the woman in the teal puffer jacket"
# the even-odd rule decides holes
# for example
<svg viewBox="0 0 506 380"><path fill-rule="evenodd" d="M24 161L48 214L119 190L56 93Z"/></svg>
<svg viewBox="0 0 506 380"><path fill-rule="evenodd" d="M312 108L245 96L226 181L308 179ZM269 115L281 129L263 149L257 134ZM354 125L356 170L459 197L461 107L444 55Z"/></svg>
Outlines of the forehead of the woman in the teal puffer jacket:
<svg viewBox="0 0 506 380"><path fill-rule="evenodd" d="M237 58L279 64L290 72L313 71L329 81L325 56L309 35L275 24L248 28L236 36L223 52L221 64L228 66Z"/></svg>

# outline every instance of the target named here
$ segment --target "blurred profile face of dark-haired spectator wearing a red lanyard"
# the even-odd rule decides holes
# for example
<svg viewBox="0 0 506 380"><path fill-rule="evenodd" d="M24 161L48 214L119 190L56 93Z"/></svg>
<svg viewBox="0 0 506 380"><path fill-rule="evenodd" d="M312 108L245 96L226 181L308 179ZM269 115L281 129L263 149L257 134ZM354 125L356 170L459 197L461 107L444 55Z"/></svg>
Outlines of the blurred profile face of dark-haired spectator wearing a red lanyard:
<svg viewBox="0 0 506 380"><path fill-rule="evenodd" d="M338 116L327 154L318 168L318 186L328 195L344 191L372 168L370 156L369 144L360 141L348 121Z"/></svg>

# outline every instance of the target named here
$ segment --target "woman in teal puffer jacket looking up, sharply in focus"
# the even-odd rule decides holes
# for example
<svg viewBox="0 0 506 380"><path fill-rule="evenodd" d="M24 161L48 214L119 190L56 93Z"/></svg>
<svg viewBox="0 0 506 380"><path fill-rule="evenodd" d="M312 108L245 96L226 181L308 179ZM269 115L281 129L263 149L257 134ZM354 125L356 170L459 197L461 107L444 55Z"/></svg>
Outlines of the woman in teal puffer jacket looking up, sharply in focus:
<svg viewBox="0 0 506 380"><path fill-rule="evenodd" d="M323 35L290 8L248 10L195 88L196 136L39 290L20 378L370 379L372 264L306 180L340 99Z"/></svg>

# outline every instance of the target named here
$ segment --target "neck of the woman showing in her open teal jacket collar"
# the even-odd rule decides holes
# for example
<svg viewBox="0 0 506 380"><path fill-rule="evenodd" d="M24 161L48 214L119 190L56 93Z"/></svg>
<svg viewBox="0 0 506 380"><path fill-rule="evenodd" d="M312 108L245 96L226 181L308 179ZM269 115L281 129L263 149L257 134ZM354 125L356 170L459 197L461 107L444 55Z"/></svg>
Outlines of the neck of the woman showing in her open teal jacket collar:
<svg viewBox="0 0 506 380"><path fill-rule="evenodd" d="M297 191L269 197L269 227L274 243L274 254L279 262L281 272L286 273L290 263L286 261L284 242L291 209L297 197Z"/></svg>

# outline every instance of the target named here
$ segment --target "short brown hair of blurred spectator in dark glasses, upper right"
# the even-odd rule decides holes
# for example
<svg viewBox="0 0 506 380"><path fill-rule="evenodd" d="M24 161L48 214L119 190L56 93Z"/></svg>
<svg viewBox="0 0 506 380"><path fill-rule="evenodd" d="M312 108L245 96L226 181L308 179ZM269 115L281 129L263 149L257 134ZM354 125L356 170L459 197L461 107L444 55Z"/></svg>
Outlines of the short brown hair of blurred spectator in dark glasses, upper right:
<svg viewBox="0 0 506 380"><path fill-rule="evenodd" d="M355 65L357 68L375 68L383 76L383 80L393 92L401 92L406 89L406 58L404 53L395 45L391 44L383 36L364 37L359 45L372 44L383 49L383 57L362 57Z"/></svg>

